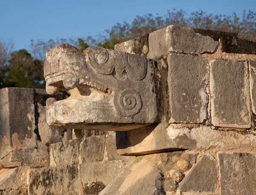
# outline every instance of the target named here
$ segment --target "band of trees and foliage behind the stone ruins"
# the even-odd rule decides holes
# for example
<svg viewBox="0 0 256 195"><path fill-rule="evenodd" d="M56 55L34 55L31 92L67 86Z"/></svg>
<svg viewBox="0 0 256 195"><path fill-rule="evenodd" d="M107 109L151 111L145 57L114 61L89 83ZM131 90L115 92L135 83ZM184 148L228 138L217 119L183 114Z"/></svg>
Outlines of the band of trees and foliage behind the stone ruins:
<svg viewBox="0 0 256 195"><path fill-rule="evenodd" d="M117 43L134 39L169 25L256 35L256 13L250 10L243 11L241 17L238 17L235 12L231 15L213 15L199 10L187 14L183 10L173 9L164 16L146 14L136 16L130 23L116 23L111 29L94 37L70 39L57 37L48 41L31 40L29 52L25 49L13 52L11 40L9 42L0 40L0 88L44 88L44 54L48 49L61 43L69 43L81 51L89 46L114 49Z"/></svg>

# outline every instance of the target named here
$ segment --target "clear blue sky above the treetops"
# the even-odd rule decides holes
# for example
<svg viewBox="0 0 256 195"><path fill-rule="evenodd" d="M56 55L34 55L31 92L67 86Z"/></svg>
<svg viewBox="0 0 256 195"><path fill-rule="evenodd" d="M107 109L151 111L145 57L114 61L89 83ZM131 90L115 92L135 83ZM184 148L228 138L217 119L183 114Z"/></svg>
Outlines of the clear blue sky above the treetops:
<svg viewBox="0 0 256 195"><path fill-rule="evenodd" d="M32 39L86 37L173 8L240 16L243 9L256 12L256 0L0 0L0 39L12 38L15 49L26 49Z"/></svg>

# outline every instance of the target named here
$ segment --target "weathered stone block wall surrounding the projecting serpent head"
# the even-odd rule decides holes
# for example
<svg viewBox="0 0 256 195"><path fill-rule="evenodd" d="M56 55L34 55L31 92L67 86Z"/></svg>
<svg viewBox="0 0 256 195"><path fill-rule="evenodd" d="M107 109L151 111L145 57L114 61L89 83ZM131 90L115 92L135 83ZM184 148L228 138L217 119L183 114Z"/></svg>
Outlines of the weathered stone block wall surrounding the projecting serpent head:
<svg viewBox="0 0 256 195"><path fill-rule="evenodd" d="M153 66L159 122L58 129L46 100L66 95L1 89L0 194L255 194L256 37L168 26L115 50Z"/></svg>

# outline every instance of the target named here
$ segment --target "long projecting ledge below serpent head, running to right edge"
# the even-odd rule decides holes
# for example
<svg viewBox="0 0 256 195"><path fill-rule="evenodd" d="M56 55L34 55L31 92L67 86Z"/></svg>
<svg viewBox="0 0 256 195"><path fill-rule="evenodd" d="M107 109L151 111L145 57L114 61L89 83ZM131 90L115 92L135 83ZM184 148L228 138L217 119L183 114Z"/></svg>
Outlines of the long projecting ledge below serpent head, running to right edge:
<svg viewBox="0 0 256 195"><path fill-rule="evenodd" d="M145 155L178 149L256 149L256 136L234 131L220 131L209 126L167 129L142 128L125 133L117 142L119 155Z"/></svg>

